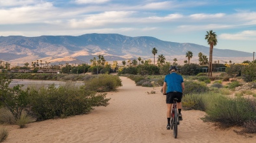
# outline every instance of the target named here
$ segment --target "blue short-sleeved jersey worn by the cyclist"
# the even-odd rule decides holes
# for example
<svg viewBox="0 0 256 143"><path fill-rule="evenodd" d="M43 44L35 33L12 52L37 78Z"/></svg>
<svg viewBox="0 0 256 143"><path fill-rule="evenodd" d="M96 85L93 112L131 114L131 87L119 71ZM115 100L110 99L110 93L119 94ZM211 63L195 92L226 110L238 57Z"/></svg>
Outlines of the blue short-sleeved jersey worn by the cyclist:
<svg viewBox="0 0 256 143"><path fill-rule="evenodd" d="M167 83L166 93L177 91L182 93L181 83L183 83L183 77L176 72L167 74L164 78L164 82Z"/></svg>

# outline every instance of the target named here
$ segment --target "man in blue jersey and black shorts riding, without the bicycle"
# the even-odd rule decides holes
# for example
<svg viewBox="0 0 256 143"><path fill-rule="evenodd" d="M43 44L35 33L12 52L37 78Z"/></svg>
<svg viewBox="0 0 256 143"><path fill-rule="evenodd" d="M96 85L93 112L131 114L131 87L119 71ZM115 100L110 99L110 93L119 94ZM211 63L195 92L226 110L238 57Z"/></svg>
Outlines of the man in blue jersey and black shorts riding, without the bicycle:
<svg viewBox="0 0 256 143"><path fill-rule="evenodd" d="M183 96L183 91L185 89L185 84L183 81L183 77L177 74L177 67L171 66L169 71L170 74L167 74L164 78L164 85L162 87L163 94L166 94L166 104L167 104L167 121L168 124L166 129L170 129L170 118L171 118L171 111L172 111L172 104L173 98L177 98L177 109L179 111L179 120L183 120L181 115L181 98ZM166 91L167 86L167 91Z"/></svg>

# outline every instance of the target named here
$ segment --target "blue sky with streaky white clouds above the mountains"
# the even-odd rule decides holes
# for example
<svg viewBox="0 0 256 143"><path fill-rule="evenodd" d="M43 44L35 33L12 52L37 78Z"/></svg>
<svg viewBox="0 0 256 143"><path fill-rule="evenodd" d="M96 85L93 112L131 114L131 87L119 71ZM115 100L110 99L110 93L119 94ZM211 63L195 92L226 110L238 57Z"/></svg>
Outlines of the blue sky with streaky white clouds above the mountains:
<svg viewBox="0 0 256 143"><path fill-rule="evenodd" d="M122 34L256 52L256 0L0 0L0 36Z"/></svg>

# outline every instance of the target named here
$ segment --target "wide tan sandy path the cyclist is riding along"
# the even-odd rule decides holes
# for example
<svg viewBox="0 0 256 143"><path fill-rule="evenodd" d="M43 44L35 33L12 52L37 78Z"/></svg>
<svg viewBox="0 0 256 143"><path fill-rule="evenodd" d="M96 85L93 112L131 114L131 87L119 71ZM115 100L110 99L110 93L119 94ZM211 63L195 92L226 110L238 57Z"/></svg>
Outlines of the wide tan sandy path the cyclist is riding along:
<svg viewBox="0 0 256 143"><path fill-rule="evenodd" d="M220 129L203 122L203 111L182 111L178 136L166 129L165 96L160 87L136 86L121 77L123 86L108 93L107 107L96 107L88 115L45 120L26 128L6 126L8 143L35 142L256 142L255 135L237 135L234 128ZM155 91L155 94L147 92ZM237 129L238 130L238 129Z"/></svg>

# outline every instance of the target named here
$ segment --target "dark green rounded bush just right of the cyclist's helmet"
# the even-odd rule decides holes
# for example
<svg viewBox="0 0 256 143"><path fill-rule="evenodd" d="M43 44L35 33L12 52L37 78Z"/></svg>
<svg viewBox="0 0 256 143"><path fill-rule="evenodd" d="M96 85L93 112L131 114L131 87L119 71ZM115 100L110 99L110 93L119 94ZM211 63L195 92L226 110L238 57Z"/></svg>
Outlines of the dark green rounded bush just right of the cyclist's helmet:
<svg viewBox="0 0 256 143"><path fill-rule="evenodd" d="M199 65L195 63L185 64L181 67L180 72L183 75L197 75L199 73Z"/></svg>

